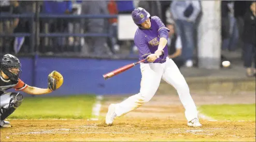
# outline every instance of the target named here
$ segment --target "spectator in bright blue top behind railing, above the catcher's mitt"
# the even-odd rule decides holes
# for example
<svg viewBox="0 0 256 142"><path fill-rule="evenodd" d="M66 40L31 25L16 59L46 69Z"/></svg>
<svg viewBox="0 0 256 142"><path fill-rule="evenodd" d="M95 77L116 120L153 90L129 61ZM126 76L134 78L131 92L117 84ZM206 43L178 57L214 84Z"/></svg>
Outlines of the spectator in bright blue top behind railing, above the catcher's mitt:
<svg viewBox="0 0 256 142"><path fill-rule="evenodd" d="M42 12L45 14L70 14L72 12L71 1L44 1ZM63 33L68 30L67 19L51 19L47 21L51 33ZM48 26L44 26L47 28ZM48 29L45 29L48 33ZM67 41L67 40L66 40ZM63 52L64 38L53 38L51 48L55 52ZM46 45L47 46L47 45Z"/></svg>

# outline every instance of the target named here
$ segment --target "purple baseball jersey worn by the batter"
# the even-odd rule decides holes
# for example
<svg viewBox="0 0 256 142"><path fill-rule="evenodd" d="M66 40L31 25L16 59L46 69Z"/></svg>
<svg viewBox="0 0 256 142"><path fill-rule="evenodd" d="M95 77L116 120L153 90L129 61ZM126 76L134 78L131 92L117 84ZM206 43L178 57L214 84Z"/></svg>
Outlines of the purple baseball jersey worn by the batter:
<svg viewBox="0 0 256 142"><path fill-rule="evenodd" d="M151 53L153 54L158 50L158 45L160 41L160 30L167 30L161 19L157 16L151 17L151 28L143 29L138 28L135 32L134 36L134 44L137 46L139 51L139 60L145 59ZM164 47L164 53L156 59L154 62L159 62L162 59L165 59L168 56L168 48L167 45ZM147 63L148 61L145 61Z"/></svg>

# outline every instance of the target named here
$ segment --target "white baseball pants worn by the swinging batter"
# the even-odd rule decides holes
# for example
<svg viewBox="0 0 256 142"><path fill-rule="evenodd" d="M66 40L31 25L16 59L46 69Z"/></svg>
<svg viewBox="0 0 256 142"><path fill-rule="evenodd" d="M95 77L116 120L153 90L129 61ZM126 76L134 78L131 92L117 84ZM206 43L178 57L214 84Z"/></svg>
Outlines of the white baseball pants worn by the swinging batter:
<svg viewBox="0 0 256 142"><path fill-rule="evenodd" d="M180 101L185 108L188 121L198 118L195 103L190 95L189 87L172 59L167 57L166 62L140 64L141 83L140 92L116 105L116 114L123 116L139 106L150 101L157 92L161 78L172 85L178 92Z"/></svg>

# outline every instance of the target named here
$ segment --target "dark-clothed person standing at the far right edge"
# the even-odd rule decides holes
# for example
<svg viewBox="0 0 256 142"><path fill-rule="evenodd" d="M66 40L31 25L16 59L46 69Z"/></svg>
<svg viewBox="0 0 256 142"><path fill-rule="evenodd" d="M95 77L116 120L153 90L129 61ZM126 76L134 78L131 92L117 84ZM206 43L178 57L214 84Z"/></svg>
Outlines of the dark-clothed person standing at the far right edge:
<svg viewBox="0 0 256 142"><path fill-rule="evenodd" d="M255 76L256 61L255 61L255 49L256 49L256 2L252 1L250 8L244 17L244 66L246 68L247 76ZM254 61L254 68L251 68L251 64Z"/></svg>

